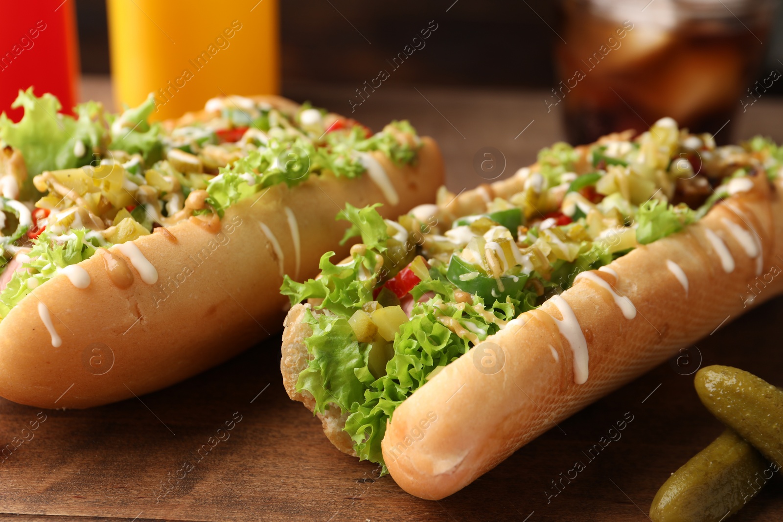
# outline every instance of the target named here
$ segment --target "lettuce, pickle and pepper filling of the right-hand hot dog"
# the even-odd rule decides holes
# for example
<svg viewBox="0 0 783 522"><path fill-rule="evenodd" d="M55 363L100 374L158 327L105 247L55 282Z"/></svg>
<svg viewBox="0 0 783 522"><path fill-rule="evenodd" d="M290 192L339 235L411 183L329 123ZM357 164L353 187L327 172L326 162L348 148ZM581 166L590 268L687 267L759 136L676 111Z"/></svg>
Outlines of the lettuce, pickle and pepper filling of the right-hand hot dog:
<svg viewBox="0 0 783 522"><path fill-rule="evenodd" d="M568 289L580 272L677 232L721 198L752 189L752 182L730 186L732 179L781 169L783 153L767 139L716 147L711 136L672 123L661 121L635 139L624 133L593 146L543 149L537 164L518 171L518 192L453 221L447 208L455 195L446 189L439 210L413 209L393 226L373 207L348 205L338 215L354 223L345 239L363 241L350 260L333 265L334 253L324 254L319 279L286 277L281 288L291 304L316 300L304 315L312 358L297 390L312 394L316 412L346 412L357 455L384 464L388 419L443 366ZM704 186L709 190L691 197ZM422 221L424 210L434 218ZM381 320L386 316L396 318L393 324Z"/></svg>

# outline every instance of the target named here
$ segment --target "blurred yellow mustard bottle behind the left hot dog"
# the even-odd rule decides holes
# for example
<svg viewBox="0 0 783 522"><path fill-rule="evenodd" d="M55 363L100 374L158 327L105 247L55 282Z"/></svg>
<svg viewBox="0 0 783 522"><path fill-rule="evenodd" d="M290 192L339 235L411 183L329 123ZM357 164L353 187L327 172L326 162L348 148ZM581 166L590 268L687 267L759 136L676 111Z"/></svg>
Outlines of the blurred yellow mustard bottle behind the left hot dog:
<svg viewBox="0 0 783 522"><path fill-rule="evenodd" d="M277 0L108 0L117 109L152 92L153 119L220 95L277 94Z"/></svg>

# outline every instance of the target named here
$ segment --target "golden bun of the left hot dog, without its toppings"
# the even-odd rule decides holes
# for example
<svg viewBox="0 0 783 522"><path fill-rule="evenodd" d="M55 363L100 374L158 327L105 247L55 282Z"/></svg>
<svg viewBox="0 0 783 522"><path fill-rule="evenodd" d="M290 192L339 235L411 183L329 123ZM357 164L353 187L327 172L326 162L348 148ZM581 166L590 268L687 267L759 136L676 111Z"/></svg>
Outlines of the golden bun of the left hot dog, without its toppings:
<svg viewBox="0 0 783 522"><path fill-rule="evenodd" d="M191 218L168 228L176 242L161 232L136 239L157 269L153 285L143 283L117 247L110 252L128 261L134 275L127 289L111 282L101 253L79 264L92 280L83 290L56 275L0 322L0 395L41 408L103 405L186 379L275 332L288 300L280 295L276 248L259 222L276 237L287 274L315 277L321 254L348 254L349 245L337 246L348 225L334 220L346 202L381 202L381 214L396 218L434 199L443 182L442 158L434 141L422 142L414 166L395 166L373 153L399 194L396 205L369 175L312 176L292 189L275 185L229 207L217 234ZM301 236L298 274L286 207ZM60 347L52 346L39 302L49 309Z"/></svg>

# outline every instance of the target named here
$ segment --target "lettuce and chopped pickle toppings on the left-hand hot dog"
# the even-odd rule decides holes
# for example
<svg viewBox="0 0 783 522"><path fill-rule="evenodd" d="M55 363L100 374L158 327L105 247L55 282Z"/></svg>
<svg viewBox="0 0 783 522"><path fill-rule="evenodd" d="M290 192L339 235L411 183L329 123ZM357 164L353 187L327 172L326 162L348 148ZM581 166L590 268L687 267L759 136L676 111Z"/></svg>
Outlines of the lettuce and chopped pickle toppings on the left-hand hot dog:
<svg viewBox="0 0 783 522"><path fill-rule="evenodd" d="M0 319L97 247L191 216L218 221L226 208L278 183L325 173L355 178L366 171L364 153L410 164L420 147L406 121L370 135L309 104L275 107L240 96L164 123L149 121L152 95L120 114L90 102L70 117L54 96L38 98L31 88L16 106L24 108L18 123L0 114L0 271L9 271L0 275ZM15 257L23 262L11 263Z"/></svg>

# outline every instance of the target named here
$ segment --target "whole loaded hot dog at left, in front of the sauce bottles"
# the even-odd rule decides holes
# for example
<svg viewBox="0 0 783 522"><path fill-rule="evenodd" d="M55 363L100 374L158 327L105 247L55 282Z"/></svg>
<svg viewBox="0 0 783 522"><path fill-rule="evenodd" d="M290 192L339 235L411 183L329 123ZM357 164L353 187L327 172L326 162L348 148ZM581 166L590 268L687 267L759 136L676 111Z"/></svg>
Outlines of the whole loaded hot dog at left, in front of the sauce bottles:
<svg viewBox="0 0 783 522"><path fill-rule="evenodd" d="M31 90L17 104L19 123L0 117L0 395L27 405L106 404L236 355L278 328L283 274L316 275L346 202L394 215L442 182L410 124L373 135L274 96L164 124L151 97L77 118Z"/></svg>

